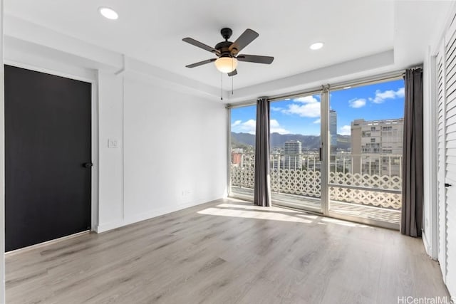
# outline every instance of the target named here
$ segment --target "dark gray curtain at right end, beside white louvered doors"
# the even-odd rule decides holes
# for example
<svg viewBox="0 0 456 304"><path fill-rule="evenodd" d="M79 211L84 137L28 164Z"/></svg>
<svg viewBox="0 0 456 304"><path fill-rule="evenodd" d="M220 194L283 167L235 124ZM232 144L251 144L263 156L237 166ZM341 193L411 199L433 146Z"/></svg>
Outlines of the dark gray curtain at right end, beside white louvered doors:
<svg viewBox="0 0 456 304"><path fill-rule="evenodd" d="M423 223L423 70L405 71L402 219L400 232L421 236Z"/></svg>

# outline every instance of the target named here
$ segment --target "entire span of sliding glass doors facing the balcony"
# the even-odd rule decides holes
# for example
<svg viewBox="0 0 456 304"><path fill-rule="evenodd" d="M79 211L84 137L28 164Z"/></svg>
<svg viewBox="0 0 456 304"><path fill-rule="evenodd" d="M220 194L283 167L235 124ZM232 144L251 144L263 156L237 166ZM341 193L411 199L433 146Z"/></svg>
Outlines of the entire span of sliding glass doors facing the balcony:
<svg viewBox="0 0 456 304"><path fill-rule="evenodd" d="M274 204L398 228L402 78L323 88L271 100L270 107ZM253 199L256 106L230 114L230 195Z"/></svg>

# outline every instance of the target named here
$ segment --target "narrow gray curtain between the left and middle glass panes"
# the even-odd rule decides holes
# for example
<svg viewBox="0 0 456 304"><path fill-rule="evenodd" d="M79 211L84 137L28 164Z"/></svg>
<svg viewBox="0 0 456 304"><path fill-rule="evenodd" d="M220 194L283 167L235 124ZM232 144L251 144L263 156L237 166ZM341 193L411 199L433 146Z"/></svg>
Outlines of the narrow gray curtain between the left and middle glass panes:
<svg viewBox="0 0 456 304"><path fill-rule="evenodd" d="M269 100L257 100L257 131L255 132L254 204L271 206L269 179Z"/></svg>

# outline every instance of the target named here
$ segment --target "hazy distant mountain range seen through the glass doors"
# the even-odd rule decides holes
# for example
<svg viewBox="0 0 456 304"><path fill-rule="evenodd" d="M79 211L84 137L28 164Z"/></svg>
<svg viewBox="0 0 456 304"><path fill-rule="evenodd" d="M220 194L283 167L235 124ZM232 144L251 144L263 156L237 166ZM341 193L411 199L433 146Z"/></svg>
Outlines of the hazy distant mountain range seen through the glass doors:
<svg viewBox="0 0 456 304"><path fill-rule="evenodd" d="M234 147L254 146L255 135L249 133L231 133L232 145ZM271 134L271 147L284 147L284 143L289 140L299 140L302 142L302 147L309 150L318 150L320 146L320 137L314 135L300 135L300 134ZM337 147L347 150L351 147L351 140L349 135L337 135Z"/></svg>

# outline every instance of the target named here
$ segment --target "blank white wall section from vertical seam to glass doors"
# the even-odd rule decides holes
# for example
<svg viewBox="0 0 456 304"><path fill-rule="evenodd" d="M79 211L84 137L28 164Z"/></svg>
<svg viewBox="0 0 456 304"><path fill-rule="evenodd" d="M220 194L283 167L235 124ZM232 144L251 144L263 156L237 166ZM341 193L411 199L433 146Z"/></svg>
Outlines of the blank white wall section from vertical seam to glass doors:
<svg viewBox="0 0 456 304"><path fill-rule="evenodd" d="M124 108L125 218L226 195L224 105L126 79Z"/></svg>

